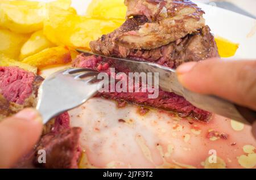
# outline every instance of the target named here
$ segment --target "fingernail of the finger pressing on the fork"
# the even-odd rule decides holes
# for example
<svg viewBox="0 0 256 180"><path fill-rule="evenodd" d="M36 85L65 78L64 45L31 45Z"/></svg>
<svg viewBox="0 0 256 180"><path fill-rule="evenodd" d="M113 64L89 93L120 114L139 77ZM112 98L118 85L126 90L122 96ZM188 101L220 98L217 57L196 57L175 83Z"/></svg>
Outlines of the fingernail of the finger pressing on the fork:
<svg viewBox="0 0 256 180"><path fill-rule="evenodd" d="M42 117L37 110L28 108L20 111L14 115L17 118L27 119L28 121L38 121L42 122Z"/></svg>

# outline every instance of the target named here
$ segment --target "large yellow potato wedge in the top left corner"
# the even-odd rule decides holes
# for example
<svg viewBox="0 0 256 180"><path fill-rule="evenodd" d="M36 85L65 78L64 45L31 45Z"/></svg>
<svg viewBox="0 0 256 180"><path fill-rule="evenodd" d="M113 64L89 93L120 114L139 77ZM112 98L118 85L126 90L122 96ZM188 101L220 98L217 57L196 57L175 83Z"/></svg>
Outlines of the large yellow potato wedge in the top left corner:
<svg viewBox="0 0 256 180"><path fill-rule="evenodd" d="M54 6L67 10L70 0L51 3L35 1L0 1L0 27L16 33L31 33L43 28L48 7Z"/></svg>

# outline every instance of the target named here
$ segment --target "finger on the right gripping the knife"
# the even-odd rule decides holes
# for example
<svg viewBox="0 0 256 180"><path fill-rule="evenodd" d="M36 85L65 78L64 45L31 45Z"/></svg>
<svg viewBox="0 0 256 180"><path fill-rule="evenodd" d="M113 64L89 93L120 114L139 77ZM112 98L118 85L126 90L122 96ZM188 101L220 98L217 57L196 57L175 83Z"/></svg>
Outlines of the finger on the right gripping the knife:
<svg viewBox="0 0 256 180"><path fill-rule="evenodd" d="M189 62L177 68L177 76L191 91L216 95L256 110L256 61Z"/></svg>

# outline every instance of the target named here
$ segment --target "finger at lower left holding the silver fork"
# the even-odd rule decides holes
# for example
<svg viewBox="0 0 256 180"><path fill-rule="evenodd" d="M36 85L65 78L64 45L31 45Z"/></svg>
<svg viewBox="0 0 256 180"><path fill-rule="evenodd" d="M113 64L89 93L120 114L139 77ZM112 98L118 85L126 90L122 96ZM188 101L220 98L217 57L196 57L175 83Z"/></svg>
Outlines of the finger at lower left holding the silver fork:
<svg viewBox="0 0 256 180"><path fill-rule="evenodd" d="M42 118L24 109L0 123L0 168L11 168L34 147L42 133Z"/></svg>

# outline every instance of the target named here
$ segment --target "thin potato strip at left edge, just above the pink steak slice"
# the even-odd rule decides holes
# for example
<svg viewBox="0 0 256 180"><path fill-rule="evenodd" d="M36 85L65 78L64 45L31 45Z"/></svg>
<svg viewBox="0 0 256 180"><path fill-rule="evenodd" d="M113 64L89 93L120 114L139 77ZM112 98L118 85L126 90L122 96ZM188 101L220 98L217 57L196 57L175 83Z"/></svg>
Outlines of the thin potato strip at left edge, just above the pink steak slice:
<svg viewBox="0 0 256 180"><path fill-rule="evenodd" d="M22 63L19 61L15 61L14 59L11 59L9 57L6 57L4 54L0 54L0 66L17 66L20 68L23 68L26 71L31 71L36 74L38 72L38 68L34 66L30 66L26 63Z"/></svg>

